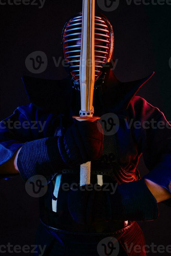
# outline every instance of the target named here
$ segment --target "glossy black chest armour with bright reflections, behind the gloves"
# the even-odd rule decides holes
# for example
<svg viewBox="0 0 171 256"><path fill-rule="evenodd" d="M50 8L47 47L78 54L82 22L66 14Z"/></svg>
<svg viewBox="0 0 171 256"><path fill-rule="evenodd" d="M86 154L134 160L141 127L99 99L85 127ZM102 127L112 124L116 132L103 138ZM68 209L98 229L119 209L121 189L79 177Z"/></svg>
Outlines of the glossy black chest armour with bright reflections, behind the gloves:
<svg viewBox="0 0 171 256"><path fill-rule="evenodd" d="M60 134L57 134L60 135ZM121 166L117 153L115 135L104 136L103 154L97 161L91 162L92 184L99 185L130 182L138 179L137 174L127 173ZM124 228L124 221L101 222L95 225L76 223L67 206L67 195L70 188L76 188L80 182L80 167L64 169L56 174L48 184L46 194L40 198L40 220L48 228L67 234L112 234Z"/></svg>

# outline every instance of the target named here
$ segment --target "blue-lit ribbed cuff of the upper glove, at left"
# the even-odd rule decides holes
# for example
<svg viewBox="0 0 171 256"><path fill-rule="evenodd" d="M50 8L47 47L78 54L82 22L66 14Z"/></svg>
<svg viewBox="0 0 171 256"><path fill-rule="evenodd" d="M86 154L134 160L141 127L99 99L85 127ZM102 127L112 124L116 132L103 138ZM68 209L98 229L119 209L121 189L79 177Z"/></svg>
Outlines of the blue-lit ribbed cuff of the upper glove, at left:
<svg viewBox="0 0 171 256"><path fill-rule="evenodd" d="M34 175L49 176L65 167L59 149L58 136L26 142L18 155L17 167L24 181Z"/></svg>

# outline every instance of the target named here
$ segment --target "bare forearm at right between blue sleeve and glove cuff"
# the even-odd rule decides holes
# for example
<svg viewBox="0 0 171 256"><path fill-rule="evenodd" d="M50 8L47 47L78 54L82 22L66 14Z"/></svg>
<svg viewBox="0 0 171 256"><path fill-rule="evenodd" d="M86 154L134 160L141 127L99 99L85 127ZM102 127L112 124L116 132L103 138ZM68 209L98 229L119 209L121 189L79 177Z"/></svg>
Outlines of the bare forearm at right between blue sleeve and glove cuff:
<svg viewBox="0 0 171 256"><path fill-rule="evenodd" d="M163 188L162 186L150 181L149 179L144 179L148 189L152 193L152 195L157 200L157 203L165 201L169 198L171 198L171 193Z"/></svg>

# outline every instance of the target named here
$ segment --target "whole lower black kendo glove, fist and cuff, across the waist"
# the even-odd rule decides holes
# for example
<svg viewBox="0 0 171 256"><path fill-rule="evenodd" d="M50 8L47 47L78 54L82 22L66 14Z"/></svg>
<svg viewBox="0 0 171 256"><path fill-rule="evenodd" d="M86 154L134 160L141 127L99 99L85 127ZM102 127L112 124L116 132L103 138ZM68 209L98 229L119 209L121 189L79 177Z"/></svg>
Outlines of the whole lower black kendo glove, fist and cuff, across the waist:
<svg viewBox="0 0 171 256"><path fill-rule="evenodd" d="M118 185L115 193L111 187L110 191L105 191L105 186L94 187L92 191L86 189L87 186L69 191L68 208L77 223L157 219L157 201L143 179Z"/></svg>

